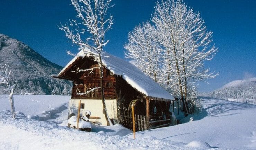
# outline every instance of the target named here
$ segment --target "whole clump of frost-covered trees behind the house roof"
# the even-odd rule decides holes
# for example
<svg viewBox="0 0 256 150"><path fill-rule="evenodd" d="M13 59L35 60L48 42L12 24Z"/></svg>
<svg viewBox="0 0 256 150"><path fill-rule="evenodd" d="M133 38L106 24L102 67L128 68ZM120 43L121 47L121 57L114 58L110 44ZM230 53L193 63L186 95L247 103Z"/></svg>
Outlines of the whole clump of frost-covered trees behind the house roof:
<svg viewBox="0 0 256 150"><path fill-rule="evenodd" d="M188 8L182 0L157 2L151 21L152 25L144 23L129 33L129 43L125 45L127 56L139 60L136 66L149 76L150 67L144 64L143 68L139 63L157 61L153 64L161 66L158 72L162 74L155 81L180 97L183 110L188 113L189 105L195 102L196 81L217 75L204 69L204 61L211 60L217 52L212 44L212 32L207 31L200 13ZM156 53L152 53L154 46Z"/></svg>

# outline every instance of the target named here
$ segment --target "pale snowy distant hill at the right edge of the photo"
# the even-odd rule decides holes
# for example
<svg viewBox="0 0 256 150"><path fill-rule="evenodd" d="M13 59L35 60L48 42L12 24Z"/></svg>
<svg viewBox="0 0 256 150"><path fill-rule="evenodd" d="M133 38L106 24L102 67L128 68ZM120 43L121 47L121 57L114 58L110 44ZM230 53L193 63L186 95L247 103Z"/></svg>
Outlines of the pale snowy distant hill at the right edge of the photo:
<svg viewBox="0 0 256 150"><path fill-rule="evenodd" d="M231 81L220 89L200 96L256 104L256 78Z"/></svg>

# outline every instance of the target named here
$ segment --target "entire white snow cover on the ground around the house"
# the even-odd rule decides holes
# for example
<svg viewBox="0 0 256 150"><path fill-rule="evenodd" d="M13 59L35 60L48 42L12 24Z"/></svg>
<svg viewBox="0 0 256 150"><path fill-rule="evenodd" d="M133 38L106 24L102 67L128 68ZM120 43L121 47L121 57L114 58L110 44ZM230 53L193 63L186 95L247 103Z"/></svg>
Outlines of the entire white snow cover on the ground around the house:
<svg viewBox="0 0 256 150"><path fill-rule="evenodd" d="M66 121L68 96L15 95L16 120L3 97L0 149L256 149L256 106L251 104L205 98L203 112L188 117L192 122L136 132L134 140L120 125L93 126L90 133L58 126Z"/></svg>

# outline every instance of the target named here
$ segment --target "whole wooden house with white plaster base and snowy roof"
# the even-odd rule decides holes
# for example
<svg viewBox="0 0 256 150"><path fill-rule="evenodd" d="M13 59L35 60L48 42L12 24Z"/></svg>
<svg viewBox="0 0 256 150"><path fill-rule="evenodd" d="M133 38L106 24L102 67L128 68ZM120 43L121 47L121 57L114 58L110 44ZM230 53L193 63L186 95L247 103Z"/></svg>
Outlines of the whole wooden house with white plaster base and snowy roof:
<svg viewBox="0 0 256 150"><path fill-rule="evenodd" d="M150 120L153 121L166 120L165 124L170 122L169 107L171 100L174 100L170 93L131 63L107 52L102 53L102 63L104 66L104 97L107 113L111 120L124 124L125 118L131 112L130 104L134 102L136 115L147 116L148 119L151 117ZM100 70L97 67L98 63L94 57L84 55L83 51L80 51L55 78L73 81L72 96L68 108L69 114L77 113L81 99L80 106L82 109L80 113L90 110L92 118L99 118L99 122L106 125L107 120L103 114L101 92L100 89L96 89L100 87ZM90 68L95 69L88 70ZM88 71L84 71L86 69ZM95 90L83 94L92 88ZM153 126L161 126L161 121ZM150 127L153 126L150 125Z"/></svg>

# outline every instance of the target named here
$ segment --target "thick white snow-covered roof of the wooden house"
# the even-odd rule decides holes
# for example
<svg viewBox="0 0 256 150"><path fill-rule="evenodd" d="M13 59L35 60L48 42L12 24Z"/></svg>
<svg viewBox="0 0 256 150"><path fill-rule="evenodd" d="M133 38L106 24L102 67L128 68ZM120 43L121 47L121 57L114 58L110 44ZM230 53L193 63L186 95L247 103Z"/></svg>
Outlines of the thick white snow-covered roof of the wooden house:
<svg viewBox="0 0 256 150"><path fill-rule="evenodd" d="M79 57L84 56L80 51L58 74L61 74L70 67ZM113 74L121 75L122 78L140 93L147 97L174 100L173 96L163 89L158 83L146 76L133 64L113 56L107 52L102 52L102 63Z"/></svg>

